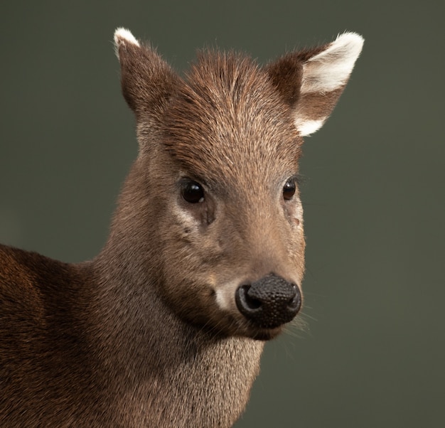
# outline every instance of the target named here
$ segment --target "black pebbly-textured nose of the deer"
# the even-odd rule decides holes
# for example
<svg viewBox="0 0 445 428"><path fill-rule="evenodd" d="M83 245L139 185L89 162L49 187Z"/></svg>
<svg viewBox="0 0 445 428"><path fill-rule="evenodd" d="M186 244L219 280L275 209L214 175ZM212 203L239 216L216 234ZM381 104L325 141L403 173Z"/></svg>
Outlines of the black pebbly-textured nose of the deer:
<svg viewBox="0 0 445 428"><path fill-rule="evenodd" d="M269 274L235 291L237 307L260 328L276 328L288 323L301 307L299 287L276 274Z"/></svg>

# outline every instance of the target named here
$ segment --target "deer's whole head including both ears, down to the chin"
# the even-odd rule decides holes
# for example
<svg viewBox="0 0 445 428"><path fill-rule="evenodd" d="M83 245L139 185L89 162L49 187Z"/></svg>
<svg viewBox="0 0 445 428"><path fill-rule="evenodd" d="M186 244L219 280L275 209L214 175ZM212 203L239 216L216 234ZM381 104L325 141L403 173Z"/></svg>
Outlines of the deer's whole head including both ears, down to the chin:
<svg viewBox="0 0 445 428"><path fill-rule="evenodd" d="M185 80L126 31L115 40L139 161L149 165L161 296L199 328L276 336L302 301L302 137L331 112L361 38L348 34L267 68L207 53Z"/></svg>

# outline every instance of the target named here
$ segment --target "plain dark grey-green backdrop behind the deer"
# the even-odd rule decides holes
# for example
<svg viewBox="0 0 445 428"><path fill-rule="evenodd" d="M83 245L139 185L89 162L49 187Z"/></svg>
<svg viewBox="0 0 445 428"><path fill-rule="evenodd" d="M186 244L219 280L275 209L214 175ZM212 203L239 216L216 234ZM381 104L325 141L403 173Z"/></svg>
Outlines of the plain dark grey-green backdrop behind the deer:
<svg viewBox="0 0 445 428"><path fill-rule="evenodd" d="M445 5L439 1L1 1L0 242L93 257L136 156L112 34L177 70L365 37L306 140L305 331L268 343L237 427L445 426Z"/></svg>

